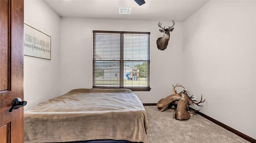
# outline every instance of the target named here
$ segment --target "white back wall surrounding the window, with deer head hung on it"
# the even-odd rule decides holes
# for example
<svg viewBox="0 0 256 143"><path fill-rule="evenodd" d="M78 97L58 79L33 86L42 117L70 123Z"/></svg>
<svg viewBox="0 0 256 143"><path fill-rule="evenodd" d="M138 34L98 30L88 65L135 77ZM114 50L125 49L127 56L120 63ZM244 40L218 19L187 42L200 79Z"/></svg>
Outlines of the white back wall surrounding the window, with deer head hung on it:
<svg viewBox="0 0 256 143"><path fill-rule="evenodd" d="M172 25L162 22L162 25ZM176 22L168 47L160 51L156 39L162 37L156 21L61 19L61 94L74 88L92 88L92 30L143 31L150 33L150 87L135 92L142 103L156 103L171 94L172 84L182 79L182 29Z"/></svg>

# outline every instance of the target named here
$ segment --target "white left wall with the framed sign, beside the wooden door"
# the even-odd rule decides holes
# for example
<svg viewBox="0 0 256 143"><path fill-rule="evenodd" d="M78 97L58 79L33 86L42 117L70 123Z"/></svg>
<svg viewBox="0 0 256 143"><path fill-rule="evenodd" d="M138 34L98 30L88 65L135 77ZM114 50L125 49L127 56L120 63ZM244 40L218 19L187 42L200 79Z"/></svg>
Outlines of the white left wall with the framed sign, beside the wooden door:
<svg viewBox="0 0 256 143"><path fill-rule="evenodd" d="M29 109L60 95L60 17L41 0L25 0L24 23L51 36L51 60L24 56L24 109Z"/></svg>

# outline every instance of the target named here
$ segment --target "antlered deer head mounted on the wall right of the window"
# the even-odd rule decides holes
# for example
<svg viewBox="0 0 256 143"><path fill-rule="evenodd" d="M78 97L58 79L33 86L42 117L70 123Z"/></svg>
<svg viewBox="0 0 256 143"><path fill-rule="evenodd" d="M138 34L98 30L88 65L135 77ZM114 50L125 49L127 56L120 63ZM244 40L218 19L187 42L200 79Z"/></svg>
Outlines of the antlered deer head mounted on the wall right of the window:
<svg viewBox="0 0 256 143"><path fill-rule="evenodd" d="M163 37L160 37L156 40L156 45L159 50L166 49L166 47L168 45L168 41L170 39L170 32L174 29L172 27L174 26L175 22L172 20L172 23L173 23L173 25L171 27L168 26L168 28L166 28L166 29L165 29L165 26L164 26L164 28L162 27L162 23L161 24L160 24L160 22L158 23L158 26L161 28L161 29L159 29L159 31L164 33Z"/></svg>

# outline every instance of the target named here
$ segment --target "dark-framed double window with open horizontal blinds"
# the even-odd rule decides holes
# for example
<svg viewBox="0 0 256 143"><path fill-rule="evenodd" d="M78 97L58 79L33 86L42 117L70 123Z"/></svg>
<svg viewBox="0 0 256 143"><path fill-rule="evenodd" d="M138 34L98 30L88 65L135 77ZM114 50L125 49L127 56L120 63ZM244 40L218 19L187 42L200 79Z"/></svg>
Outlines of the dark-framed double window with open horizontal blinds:
<svg viewBox="0 0 256 143"><path fill-rule="evenodd" d="M93 31L93 88L150 90L150 32Z"/></svg>

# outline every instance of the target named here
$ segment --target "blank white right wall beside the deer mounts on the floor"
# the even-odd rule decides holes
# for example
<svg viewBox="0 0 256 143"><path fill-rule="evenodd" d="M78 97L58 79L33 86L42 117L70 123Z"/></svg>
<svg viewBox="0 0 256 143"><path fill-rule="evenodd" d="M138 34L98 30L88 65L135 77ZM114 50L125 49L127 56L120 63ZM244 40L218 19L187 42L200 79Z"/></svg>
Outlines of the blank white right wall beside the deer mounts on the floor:
<svg viewBox="0 0 256 143"><path fill-rule="evenodd" d="M212 0L183 23L183 84L197 100L203 94L198 109L254 139L255 6Z"/></svg>

